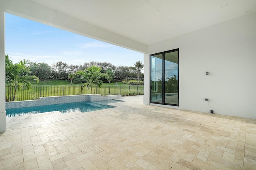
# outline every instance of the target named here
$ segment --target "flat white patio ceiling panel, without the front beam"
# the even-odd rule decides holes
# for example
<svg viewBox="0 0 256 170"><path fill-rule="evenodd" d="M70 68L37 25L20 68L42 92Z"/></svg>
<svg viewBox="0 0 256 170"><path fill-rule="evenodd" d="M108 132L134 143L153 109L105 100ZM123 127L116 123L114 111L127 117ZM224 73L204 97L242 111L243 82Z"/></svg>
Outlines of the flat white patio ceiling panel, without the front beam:
<svg viewBox="0 0 256 170"><path fill-rule="evenodd" d="M256 12L256 0L32 1L145 45Z"/></svg>

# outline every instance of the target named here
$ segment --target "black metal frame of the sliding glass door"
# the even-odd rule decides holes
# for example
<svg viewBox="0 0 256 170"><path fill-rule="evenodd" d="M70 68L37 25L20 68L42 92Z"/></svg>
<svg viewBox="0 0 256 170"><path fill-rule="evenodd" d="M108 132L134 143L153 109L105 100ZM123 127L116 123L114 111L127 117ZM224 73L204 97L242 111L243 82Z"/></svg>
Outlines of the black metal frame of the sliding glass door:
<svg viewBox="0 0 256 170"><path fill-rule="evenodd" d="M164 80L164 76L165 76L165 54L166 53L171 53L171 52L175 52L177 51L178 52L178 75L177 75L177 78L178 78L178 104L167 104L165 103L165 98L163 96L165 96L165 80ZM152 102L152 85L151 85L151 72L152 72L152 57L154 57L155 55L161 55L162 54L162 102ZM179 106L179 49L173 49L173 50L169 50L169 51L164 51L164 52L160 52L160 53L156 53L156 54L152 54L150 55L150 103L153 103L153 104L162 104L162 105L170 105L170 106Z"/></svg>

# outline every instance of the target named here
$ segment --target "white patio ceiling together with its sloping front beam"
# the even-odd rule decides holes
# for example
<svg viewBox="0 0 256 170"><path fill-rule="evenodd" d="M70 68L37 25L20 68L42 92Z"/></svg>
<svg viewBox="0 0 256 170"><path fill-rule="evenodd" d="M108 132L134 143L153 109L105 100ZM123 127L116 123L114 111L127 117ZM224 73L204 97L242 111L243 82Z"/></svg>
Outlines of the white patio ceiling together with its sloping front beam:
<svg viewBox="0 0 256 170"><path fill-rule="evenodd" d="M147 45L256 12L255 0L2 0L10 14L147 53Z"/></svg>

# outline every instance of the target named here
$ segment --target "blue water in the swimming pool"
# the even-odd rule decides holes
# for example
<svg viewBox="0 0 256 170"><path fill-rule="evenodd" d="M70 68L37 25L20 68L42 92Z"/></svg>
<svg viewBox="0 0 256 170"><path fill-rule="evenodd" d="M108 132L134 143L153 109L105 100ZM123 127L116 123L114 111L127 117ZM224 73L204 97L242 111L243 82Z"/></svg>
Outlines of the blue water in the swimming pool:
<svg viewBox="0 0 256 170"><path fill-rule="evenodd" d="M21 115L30 115L36 113L44 113L49 111L60 111L62 113L80 111L88 112L101 109L108 109L114 106L106 104L122 102L118 100L107 100L102 102L76 102L76 103L65 103L65 104L53 104L46 106L33 106L33 107L20 107L15 109L6 109L6 117L14 117Z"/></svg>

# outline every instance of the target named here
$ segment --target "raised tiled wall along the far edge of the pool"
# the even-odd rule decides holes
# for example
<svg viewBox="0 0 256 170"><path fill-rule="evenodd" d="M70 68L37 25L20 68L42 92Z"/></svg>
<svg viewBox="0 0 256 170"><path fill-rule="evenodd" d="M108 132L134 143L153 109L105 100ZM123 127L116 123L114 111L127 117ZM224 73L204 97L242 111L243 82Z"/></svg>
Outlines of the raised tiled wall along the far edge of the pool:
<svg viewBox="0 0 256 170"><path fill-rule="evenodd" d="M17 102L6 102L6 109L19 108L19 107L32 107L32 106L45 106L51 104L64 104L74 102L96 102L103 100L120 99L122 95L100 96L100 94L85 94L74 96L54 96L42 97L40 100L26 100ZM6 116L6 115L5 115Z"/></svg>

